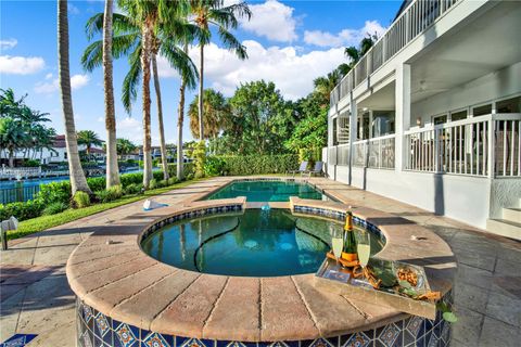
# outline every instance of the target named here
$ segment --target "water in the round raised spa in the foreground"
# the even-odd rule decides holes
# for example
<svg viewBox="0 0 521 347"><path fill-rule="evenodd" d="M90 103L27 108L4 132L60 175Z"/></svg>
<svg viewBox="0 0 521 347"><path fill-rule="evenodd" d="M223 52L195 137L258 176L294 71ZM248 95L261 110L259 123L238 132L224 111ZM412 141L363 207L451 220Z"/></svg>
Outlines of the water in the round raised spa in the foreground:
<svg viewBox="0 0 521 347"><path fill-rule="evenodd" d="M171 266L213 274L276 277L316 272L342 223L296 217L287 209L246 209L183 220L160 229L141 246ZM356 230L361 232L361 230ZM371 254L381 242L371 237Z"/></svg>

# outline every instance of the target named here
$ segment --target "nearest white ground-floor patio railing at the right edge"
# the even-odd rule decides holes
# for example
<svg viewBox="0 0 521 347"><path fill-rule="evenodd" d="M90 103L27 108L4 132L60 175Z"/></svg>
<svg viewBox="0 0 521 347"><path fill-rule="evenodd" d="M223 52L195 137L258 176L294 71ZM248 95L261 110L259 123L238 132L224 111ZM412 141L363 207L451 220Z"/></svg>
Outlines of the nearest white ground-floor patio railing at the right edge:
<svg viewBox="0 0 521 347"><path fill-rule="evenodd" d="M406 170L521 177L521 114L480 116L409 130L405 147Z"/></svg>

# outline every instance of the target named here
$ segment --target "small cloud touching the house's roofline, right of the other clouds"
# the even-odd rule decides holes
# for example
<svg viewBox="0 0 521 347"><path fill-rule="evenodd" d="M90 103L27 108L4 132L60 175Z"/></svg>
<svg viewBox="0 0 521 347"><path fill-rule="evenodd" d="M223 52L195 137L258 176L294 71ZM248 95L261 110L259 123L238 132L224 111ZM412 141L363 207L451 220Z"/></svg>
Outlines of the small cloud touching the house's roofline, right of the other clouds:
<svg viewBox="0 0 521 347"><path fill-rule="evenodd" d="M331 34L321 30L304 31L304 42L318 47L345 47L358 46L361 39L368 34L377 34L378 37L385 33L385 28L378 21L366 21L359 29L343 29L340 33Z"/></svg>

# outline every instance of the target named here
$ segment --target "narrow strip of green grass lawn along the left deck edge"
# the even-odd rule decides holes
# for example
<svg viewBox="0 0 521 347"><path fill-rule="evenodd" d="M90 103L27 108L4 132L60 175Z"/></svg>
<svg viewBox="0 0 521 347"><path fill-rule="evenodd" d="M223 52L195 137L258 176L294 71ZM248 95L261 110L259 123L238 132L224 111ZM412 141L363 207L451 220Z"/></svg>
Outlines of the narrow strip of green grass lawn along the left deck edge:
<svg viewBox="0 0 521 347"><path fill-rule="evenodd" d="M185 188L187 185L190 185L194 182L203 181L203 179L199 180L191 180L191 181L185 181L180 182L174 185L165 187L165 188L158 188L154 190L150 190L144 192L142 195L129 195L129 196L123 196L116 201L110 202L110 203L104 203L104 204L96 204L89 207L85 208L77 208L77 209L67 209L64 210L63 213L51 215L51 216L41 216L38 218L33 218L28 220L24 220L20 222L18 224L18 230L10 230L8 231L8 240L13 240L13 239L18 239L35 232L43 231L46 229L61 226L64 223L67 223L69 221L80 219L87 216L91 216L114 207L118 207L122 205L130 204L140 200L144 200L147 197L153 196L153 195L158 195L162 193L166 193L171 190L176 190L179 188Z"/></svg>

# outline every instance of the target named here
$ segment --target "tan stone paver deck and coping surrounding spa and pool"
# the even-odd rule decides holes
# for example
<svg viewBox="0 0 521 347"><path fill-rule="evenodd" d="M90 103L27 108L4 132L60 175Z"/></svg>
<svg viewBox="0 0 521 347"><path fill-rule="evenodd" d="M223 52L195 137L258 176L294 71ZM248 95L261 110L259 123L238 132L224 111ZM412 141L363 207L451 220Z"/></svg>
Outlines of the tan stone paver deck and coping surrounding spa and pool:
<svg viewBox="0 0 521 347"><path fill-rule="evenodd" d="M93 259L92 255L96 253L92 250L97 247L100 247L98 255L103 253L101 248L105 246L117 246L119 249L125 249L125 245L128 243L129 247L135 247L137 234L142 230L143 223L147 224L152 219L161 217L162 214L171 214L176 209L187 207L183 205L204 204L204 202L193 204L191 202L228 180L229 178L216 178L157 197L158 202L167 203L170 205L169 207L143 213L142 202L138 202L12 243L11 250L1 253L0 342L9 338L14 332L25 332L39 334L33 343L35 346L74 345L74 296L64 275L64 265L76 246L84 240L86 241L81 244L81 247L89 247L90 245L91 252L84 254L87 257L85 259L87 262ZM474 228L448 218L434 216L416 207L353 189L342 183L321 178L310 181L321 188L331 190L336 197L345 203L360 208L358 213L363 210L364 206L384 211L385 215L382 214L382 217L390 218L387 219L387 228L398 228L401 224L396 224L396 221L402 220L403 226L399 228L418 228L418 226L421 226L448 242L459 262L455 300L460 324L453 327L453 345L476 346L478 340L480 340L484 346L500 344L513 346L514 342L521 337L519 329L521 246L518 242L480 233ZM378 216L372 216L372 218L376 217ZM93 231L97 234L89 237ZM123 244L106 245L107 239L122 241ZM81 255L79 250L75 253L75 256ZM446 253L447 249L441 250L444 252L443 257L450 257ZM135 255L141 256L140 253ZM396 256L399 256L399 254L396 254ZM425 257L424 254L407 255L408 258L411 256ZM315 306L314 309L312 307L313 303L323 304L328 299L332 300L331 307L338 307L338 305L334 306L334 303L338 304L339 298L329 294L315 293L314 287L306 283L305 277L244 280L201 275L183 270L183 273L179 273L181 270L171 270L171 267L157 264L147 256L144 256L147 260L143 261L135 261L135 258L125 260L122 257L106 254L106 258L100 264L103 264L106 269L110 268L110 258L113 258L113 261L117 259L117 264L113 264L113 269L119 267L119 270L123 270L119 271L122 275L119 280L132 283L132 285L111 286L111 282L106 282L110 279L101 275L103 272L97 271L105 271L105 274L114 273L114 271L100 270L101 268L97 268L96 265L98 262L91 261L88 262L90 270L87 270L91 274L79 272L76 274L78 279L88 279L90 275L96 281L77 281L80 282L77 283L77 286L80 287L84 283L85 288L86 283L97 283L96 285L92 284L93 287L86 290L86 299L89 294L91 297L99 297L99 295L92 294L99 294L100 291L113 293L103 296L114 297L111 303L100 303L92 299L92 303L96 301L97 305L106 305L106 309L112 307L111 310L113 310L114 307L122 308L125 305L131 307L131 298L149 288L149 284L151 284L149 281L141 281L141 277L138 279L135 273L140 269L148 269L145 272L150 273L152 280L155 279L152 282L155 284L150 290L153 287L160 288L156 285L163 283L165 291L173 292L169 297L167 295L163 295L164 297L152 295L155 298L154 301L156 301L155 306L143 307L143 310L148 309L149 311L161 309L153 313L151 324L153 329L156 326L154 330L171 329L168 326L162 327L161 324L162 322L171 322L170 319L174 319L177 320L175 322L186 324L181 327L178 325L176 329L183 332L190 330L194 334L199 332L202 334L201 336L211 335L218 338L218 334L228 330L229 326L239 326L241 329L238 329L238 333L243 335L238 335L238 339L242 336L278 339L279 336L291 330L288 324L291 324L290 327L295 324L295 321L284 321L281 312L298 316L301 321L296 323L302 326L302 334L308 334L306 336L333 332L335 329L342 330L346 327L346 324L354 324L355 321L358 321L358 324L367 325L371 323L371 320L376 322L385 318L393 319L397 314L394 310L385 311L385 309L379 307L367 306L360 310L360 307L353 306L354 303L348 303L345 298L342 301L344 304L342 309L351 310L351 312L333 312L329 307L325 309L320 306ZM76 259L78 258L76 257ZM445 259L444 264L450 262L447 260L453 259ZM71 267L73 267L73 264L71 264ZM77 269L84 268L86 267L77 267ZM154 271L149 271L151 269L154 269ZM75 271L72 272L74 275ZM182 280L180 281L179 278L182 278ZM177 286L168 285L168 281L174 281ZM201 292L201 285L198 284L207 285L208 283L216 290ZM97 287L98 285L99 287ZM73 287L78 290L74 280ZM242 295L227 295L228 293L237 294L236 288L241 288ZM281 291L285 292L288 296L281 296ZM175 300L173 300L174 297ZM293 298L294 301L287 299L288 297ZM198 298L196 303L192 298ZM281 300L281 298L284 299ZM167 301L158 303L161 299ZM136 303L138 301L141 300L136 300ZM230 314L230 311L226 309L236 306L237 303L241 303L245 316ZM350 305L346 305L347 303ZM162 305L163 307L161 307ZM135 308L130 311L135 311ZM123 309L122 311L125 313ZM190 312L192 312L190 316L187 314ZM322 314L323 317L316 314ZM334 319L331 318L328 321L328 314L334 316ZM350 317L350 322L342 322L341 319L338 322L339 317L348 317L344 314L353 314L353 318ZM151 316L149 316L149 319ZM147 314L140 313L139 317L147 317ZM335 321L340 327L321 325L325 322L333 324ZM266 324L263 324L264 322ZM353 327L355 326L353 325ZM64 338L65 336L68 339ZM229 333L226 334L226 338L232 337ZM295 337L307 338L305 336Z"/></svg>

